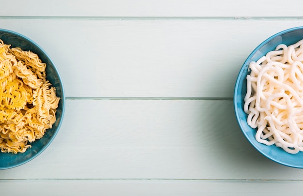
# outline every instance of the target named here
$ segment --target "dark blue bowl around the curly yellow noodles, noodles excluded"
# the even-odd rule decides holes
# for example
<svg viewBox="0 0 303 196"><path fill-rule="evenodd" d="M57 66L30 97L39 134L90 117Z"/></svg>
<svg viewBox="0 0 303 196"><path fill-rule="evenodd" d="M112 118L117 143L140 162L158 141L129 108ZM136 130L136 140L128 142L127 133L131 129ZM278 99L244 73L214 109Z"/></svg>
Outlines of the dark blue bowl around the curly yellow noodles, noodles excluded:
<svg viewBox="0 0 303 196"><path fill-rule="evenodd" d="M0 29L0 39L3 40L4 44L9 44L11 47L20 47L22 50L30 50L36 53L40 59L46 63L46 78L50 81L52 86L56 88L56 94L61 98L56 112L56 122L53 124L51 129L46 130L45 135L41 139L30 143L31 148L24 153L17 154L0 152L0 169L8 169L29 162L44 151L52 142L62 123L65 108L65 96L61 76L59 75L54 62L39 45L31 41L29 38L10 30Z"/></svg>

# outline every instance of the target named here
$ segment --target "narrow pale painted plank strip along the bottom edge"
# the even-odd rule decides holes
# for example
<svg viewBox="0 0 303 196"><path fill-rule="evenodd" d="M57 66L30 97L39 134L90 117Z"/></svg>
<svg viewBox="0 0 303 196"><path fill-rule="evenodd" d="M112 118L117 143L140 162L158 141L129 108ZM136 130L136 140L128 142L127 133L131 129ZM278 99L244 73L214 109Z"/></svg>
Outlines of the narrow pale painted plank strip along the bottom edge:
<svg viewBox="0 0 303 196"><path fill-rule="evenodd" d="M3 195L277 196L300 195L302 181L2 180Z"/></svg>

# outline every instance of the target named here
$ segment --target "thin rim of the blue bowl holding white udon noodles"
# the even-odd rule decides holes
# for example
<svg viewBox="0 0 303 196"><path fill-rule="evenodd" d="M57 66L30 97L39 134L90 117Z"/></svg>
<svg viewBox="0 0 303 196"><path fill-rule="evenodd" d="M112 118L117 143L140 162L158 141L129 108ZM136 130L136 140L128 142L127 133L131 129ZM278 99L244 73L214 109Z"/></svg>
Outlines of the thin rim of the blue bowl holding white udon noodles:
<svg viewBox="0 0 303 196"><path fill-rule="evenodd" d="M264 45L266 45L267 43L269 43L273 38L277 37L277 36L281 36L283 34L286 34L286 33L289 33L289 32L292 32L292 31L296 31L296 30L303 30L303 26L299 26L299 27L293 27L293 28L289 28L289 29L286 29L286 30L282 30L280 32L277 32L275 34L273 34L272 36L270 36L269 38L267 38L266 40L264 40L261 44L259 44L251 53L250 55L246 58L246 60L243 62L242 66L241 66L241 69L237 75L237 79L236 79L236 83L235 83L235 87L234 87L234 95L233 95L233 104L234 104L234 111L235 111L235 115L236 115L236 119L237 119L237 122L238 122L238 125L243 133L243 135L245 136L245 138L249 141L249 143L257 150L259 151L262 155L264 155L265 157L267 157L268 159L278 163L278 164L281 164L281 165L284 165L284 166L289 166L289 167L294 167L294 168L303 168L303 164L302 165L296 165L296 164L288 164L288 163L284 163L283 161L281 160L278 160L270 155L268 155L267 153L265 153L264 151L262 151L261 149L258 148L258 146L253 143L253 141L251 141L251 139L249 139L248 137L248 134L247 132L244 131L244 127L242 127L242 124L241 124L241 119L240 119L240 115L238 113L238 110L237 110L237 95L238 95L238 86L241 82L241 75L245 69L245 65L247 64L248 61L250 61L250 59L256 54L256 52L261 48L263 47ZM303 37L303 36L302 36ZM303 38L302 38L303 39ZM261 143L260 143L261 144ZM265 145L265 144L264 144Z"/></svg>

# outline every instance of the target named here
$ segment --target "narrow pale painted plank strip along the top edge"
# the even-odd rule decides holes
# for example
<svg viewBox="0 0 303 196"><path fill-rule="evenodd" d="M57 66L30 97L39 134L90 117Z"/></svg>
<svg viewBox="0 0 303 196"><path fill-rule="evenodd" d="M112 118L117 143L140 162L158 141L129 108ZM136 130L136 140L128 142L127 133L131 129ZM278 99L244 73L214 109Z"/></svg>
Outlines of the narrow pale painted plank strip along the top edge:
<svg viewBox="0 0 303 196"><path fill-rule="evenodd" d="M1 0L4 16L238 17L302 16L301 0ZM12 9L14 8L14 9Z"/></svg>

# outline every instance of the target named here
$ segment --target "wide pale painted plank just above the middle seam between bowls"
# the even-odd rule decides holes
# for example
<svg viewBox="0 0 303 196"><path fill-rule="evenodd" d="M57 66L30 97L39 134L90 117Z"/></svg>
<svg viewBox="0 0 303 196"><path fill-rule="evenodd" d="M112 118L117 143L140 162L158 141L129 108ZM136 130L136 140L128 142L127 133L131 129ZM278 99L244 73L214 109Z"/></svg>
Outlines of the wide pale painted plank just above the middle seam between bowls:
<svg viewBox="0 0 303 196"><path fill-rule="evenodd" d="M300 20L0 19L58 66L69 97L232 97L242 63Z"/></svg>

